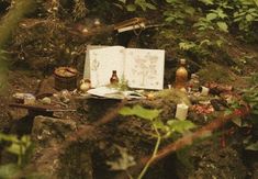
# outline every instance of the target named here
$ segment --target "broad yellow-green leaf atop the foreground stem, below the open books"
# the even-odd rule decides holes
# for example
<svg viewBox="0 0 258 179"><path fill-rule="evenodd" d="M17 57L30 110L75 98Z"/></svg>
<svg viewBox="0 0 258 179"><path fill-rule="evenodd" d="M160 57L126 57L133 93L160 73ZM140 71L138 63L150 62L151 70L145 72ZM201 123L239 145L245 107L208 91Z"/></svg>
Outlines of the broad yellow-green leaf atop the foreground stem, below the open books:
<svg viewBox="0 0 258 179"><path fill-rule="evenodd" d="M156 119L160 112L161 110L149 110L141 105L134 105L133 108L124 107L119 111L122 115L136 115L138 118L152 121Z"/></svg>

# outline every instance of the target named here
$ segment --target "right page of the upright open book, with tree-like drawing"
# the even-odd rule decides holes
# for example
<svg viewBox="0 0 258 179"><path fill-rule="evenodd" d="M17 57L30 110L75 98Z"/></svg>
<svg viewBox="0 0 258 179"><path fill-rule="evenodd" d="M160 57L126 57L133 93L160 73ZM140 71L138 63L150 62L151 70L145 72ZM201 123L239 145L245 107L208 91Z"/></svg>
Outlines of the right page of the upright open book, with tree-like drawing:
<svg viewBox="0 0 258 179"><path fill-rule="evenodd" d="M165 51L125 49L125 79L131 88L161 90L164 88Z"/></svg>

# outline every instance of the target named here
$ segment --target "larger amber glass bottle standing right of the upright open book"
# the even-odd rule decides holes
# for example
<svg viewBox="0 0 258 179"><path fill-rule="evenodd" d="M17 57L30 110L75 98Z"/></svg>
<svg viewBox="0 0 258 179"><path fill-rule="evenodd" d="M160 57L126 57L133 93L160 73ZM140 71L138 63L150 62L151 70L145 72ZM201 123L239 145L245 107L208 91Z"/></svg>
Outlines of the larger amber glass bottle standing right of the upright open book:
<svg viewBox="0 0 258 179"><path fill-rule="evenodd" d="M186 69L186 59L180 59L180 67L176 71L176 85L175 88L187 88L188 70Z"/></svg>

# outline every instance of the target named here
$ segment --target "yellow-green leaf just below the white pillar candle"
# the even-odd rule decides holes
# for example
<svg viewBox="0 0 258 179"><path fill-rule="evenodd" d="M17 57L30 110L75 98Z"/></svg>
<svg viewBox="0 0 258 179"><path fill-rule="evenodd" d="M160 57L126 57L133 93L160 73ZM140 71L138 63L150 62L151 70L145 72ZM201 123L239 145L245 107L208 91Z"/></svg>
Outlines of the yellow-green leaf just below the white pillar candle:
<svg viewBox="0 0 258 179"><path fill-rule="evenodd" d="M168 126L170 127L171 131L178 132L178 133L184 133L191 128L197 127L195 124L193 124L191 121L188 120L169 120L168 121Z"/></svg>

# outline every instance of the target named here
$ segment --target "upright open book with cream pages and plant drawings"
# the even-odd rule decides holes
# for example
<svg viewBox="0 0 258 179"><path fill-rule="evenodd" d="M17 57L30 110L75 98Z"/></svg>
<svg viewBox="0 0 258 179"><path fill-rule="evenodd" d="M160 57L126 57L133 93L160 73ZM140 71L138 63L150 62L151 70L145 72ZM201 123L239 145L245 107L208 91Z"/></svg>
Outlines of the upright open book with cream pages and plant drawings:
<svg viewBox="0 0 258 179"><path fill-rule="evenodd" d="M120 81L128 87L160 90L164 87L165 51L125 48L123 46L88 46L83 78L93 88L110 83L116 70Z"/></svg>

